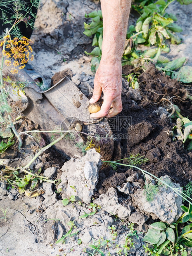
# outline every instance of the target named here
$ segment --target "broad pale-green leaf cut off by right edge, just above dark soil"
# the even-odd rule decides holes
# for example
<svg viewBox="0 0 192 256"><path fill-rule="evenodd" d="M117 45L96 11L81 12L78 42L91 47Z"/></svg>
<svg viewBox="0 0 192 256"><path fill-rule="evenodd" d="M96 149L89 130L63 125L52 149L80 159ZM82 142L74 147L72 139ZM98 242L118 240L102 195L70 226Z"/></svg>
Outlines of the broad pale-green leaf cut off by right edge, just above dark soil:
<svg viewBox="0 0 192 256"><path fill-rule="evenodd" d="M183 66L178 72L173 72L172 79L178 79L178 81L183 83L192 82L192 66Z"/></svg>

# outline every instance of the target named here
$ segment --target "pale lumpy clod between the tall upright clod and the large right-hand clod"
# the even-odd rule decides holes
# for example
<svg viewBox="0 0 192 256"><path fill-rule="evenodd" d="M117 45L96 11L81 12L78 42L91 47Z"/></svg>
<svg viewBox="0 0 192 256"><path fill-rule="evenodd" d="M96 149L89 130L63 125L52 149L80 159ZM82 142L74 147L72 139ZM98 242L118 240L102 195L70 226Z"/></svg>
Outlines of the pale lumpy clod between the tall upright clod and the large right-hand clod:
<svg viewBox="0 0 192 256"><path fill-rule="evenodd" d="M109 188L106 194L101 194L99 198L94 200L95 204L101 206L104 211L118 215L119 218L126 220L130 214L130 206L124 207L118 202L118 195L114 187Z"/></svg>

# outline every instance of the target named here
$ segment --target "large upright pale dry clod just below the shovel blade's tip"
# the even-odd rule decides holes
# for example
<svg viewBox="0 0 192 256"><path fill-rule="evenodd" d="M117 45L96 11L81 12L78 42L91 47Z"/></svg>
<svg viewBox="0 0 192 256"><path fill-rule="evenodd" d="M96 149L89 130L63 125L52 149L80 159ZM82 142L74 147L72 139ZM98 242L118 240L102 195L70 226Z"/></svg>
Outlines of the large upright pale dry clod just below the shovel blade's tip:
<svg viewBox="0 0 192 256"><path fill-rule="evenodd" d="M95 149L90 149L83 157L70 159L62 167L62 182L57 190L62 190L63 197L75 195L78 200L89 204L98 182L101 164L100 154Z"/></svg>

